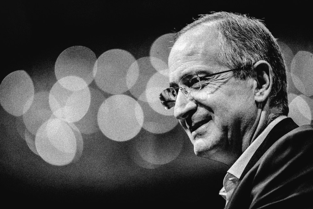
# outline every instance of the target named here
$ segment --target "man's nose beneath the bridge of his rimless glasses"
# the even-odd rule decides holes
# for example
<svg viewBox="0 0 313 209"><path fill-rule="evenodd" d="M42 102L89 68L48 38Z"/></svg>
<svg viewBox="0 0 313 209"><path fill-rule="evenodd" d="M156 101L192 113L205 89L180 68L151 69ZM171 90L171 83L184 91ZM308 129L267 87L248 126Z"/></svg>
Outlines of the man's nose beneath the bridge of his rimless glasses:
<svg viewBox="0 0 313 209"><path fill-rule="evenodd" d="M180 120L185 119L196 110L197 104L193 97L186 97L183 92L179 91L174 106L175 118Z"/></svg>

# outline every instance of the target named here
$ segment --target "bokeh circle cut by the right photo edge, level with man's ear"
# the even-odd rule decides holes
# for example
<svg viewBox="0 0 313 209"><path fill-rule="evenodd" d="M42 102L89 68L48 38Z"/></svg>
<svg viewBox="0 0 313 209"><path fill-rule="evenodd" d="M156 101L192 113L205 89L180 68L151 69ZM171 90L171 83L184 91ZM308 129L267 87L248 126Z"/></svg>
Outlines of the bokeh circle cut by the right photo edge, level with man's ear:
<svg viewBox="0 0 313 209"><path fill-rule="evenodd" d="M291 78L295 86L306 96L313 95L313 54L298 51L291 63Z"/></svg>

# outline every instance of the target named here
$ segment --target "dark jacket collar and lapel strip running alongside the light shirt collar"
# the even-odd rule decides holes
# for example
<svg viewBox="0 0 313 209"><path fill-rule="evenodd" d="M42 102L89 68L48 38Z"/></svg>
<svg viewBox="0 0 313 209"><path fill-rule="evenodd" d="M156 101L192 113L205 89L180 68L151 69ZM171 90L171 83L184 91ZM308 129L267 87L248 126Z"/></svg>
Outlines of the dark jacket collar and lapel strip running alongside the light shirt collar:
<svg viewBox="0 0 313 209"><path fill-rule="evenodd" d="M255 163L266 152L266 150L270 148L270 146L272 146L279 138L284 136L286 133L298 127L299 126L291 118L285 118L281 120L279 123L277 123L274 126L274 128L272 128L272 130L269 132L269 134L264 139L259 148L255 151L249 163L245 167L239 180L241 180L246 175L246 173L255 165Z"/></svg>

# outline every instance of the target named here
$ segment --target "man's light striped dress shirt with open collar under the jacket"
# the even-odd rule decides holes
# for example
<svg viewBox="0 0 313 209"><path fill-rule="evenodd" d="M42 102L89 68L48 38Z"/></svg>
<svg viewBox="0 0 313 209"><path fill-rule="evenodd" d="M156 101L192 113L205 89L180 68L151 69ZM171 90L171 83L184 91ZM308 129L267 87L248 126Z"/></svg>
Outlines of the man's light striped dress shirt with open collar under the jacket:
<svg viewBox="0 0 313 209"><path fill-rule="evenodd" d="M227 174L223 180L223 188L219 191L219 194L226 200L226 205L236 187L239 184L239 179L243 173L249 160L255 153L255 151L262 144L269 132L274 126L286 116L279 116L275 118L269 125L260 133L260 135L249 145L242 155L236 160L236 162L227 171Z"/></svg>

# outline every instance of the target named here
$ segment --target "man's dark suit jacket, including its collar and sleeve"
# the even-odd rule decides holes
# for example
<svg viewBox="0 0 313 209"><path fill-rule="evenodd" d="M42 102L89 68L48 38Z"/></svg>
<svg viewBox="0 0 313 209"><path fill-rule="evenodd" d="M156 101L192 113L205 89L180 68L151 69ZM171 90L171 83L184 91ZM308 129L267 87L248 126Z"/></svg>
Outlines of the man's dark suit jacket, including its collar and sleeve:
<svg viewBox="0 0 313 209"><path fill-rule="evenodd" d="M285 118L246 166L226 208L313 208L313 127Z"/></svg>

